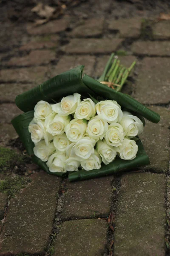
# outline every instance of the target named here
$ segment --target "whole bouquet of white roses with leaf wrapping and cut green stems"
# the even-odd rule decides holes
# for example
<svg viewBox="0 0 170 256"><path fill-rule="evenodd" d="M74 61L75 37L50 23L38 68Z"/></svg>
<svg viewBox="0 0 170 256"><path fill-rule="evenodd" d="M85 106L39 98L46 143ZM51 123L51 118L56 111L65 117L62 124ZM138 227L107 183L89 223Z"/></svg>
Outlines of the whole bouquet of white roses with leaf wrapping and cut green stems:
<svg viewBox="0 0 170 256"><path fill-rule="evenodd" d="M46 172L68 174L72 181L149 163L138 135L143 117L159 122L160 116L119 92L134 64L126 69L112 59L99 81L82 78L84 66L79 66L17 96L25 113L12 124L32 160Z"/></svg>

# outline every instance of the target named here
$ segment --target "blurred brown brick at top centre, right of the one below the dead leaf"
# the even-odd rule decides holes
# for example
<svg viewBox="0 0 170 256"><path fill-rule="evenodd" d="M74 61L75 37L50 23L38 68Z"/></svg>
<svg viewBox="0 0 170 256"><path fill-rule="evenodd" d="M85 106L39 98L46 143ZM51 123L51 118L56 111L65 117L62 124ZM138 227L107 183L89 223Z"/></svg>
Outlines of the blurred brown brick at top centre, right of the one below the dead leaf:
<svg viewBox="0 0 170 256"><path fill-rule="evenodd" d="M73 32L72 36L75 37L95 37L102 35L104 18L93 18L82 21L82 24L77 26Z"/></svg>

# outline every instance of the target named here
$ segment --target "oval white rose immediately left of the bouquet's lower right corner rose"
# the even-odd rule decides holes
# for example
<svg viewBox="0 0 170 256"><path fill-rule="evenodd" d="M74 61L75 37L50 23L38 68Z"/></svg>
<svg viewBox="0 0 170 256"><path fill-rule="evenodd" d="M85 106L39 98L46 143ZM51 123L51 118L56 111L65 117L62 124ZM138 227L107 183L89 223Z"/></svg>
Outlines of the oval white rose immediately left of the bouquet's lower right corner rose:
<svg viewBox="0 0 170 256"><path fill-rule="evenodd" d="M109 164L113 162L116 157L116 148L108 145L105 140L99 140L96 144L96 150L102 157L102 162Z"/></svg>

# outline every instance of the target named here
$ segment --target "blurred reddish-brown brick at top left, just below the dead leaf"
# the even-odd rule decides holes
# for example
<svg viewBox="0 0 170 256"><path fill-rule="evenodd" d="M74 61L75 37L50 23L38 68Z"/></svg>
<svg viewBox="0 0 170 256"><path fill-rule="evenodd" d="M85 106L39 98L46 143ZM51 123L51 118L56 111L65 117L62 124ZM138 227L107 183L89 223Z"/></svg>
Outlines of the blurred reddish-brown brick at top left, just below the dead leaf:
<svg viewBox="0 0 170 256"><path fill-rule="evenodd" d="M27 32L30 35L49 35L64 31L69 26L69 20L59 19L49 21L41 26L33 26L28 24Z"/></svg>

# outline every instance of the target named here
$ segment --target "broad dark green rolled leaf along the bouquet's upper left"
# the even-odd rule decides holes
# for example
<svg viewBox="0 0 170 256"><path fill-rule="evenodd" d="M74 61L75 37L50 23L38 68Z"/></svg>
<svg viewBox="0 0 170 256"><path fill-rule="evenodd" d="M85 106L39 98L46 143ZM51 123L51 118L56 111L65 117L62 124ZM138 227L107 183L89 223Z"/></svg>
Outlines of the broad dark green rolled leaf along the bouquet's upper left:
<svg viewBox="0 0 170 256"><path fill-rule="evenodd" d="M48 81L18 95L15 103L23 112L34 110L40 100L54 103L53 100L60 99L73 93L87 95L91 90L82 82L82 71L84 66L68 70L60 75L54 76Z"/></svg>

